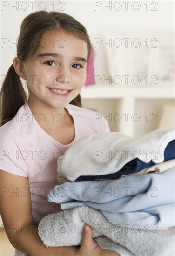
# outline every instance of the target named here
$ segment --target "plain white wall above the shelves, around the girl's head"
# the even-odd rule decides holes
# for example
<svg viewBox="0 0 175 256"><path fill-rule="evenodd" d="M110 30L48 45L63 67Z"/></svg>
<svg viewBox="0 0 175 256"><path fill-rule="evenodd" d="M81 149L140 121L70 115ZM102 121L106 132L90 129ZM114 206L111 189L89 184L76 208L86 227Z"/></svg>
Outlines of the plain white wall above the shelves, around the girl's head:
<svg viewBox="0 0 175 256"><path fill-rule="evenodd" d="M68 13L87 27L92 40L94 37L99 37L101 33L106 34L109 32L114 34L122 32L122 34L126 35L130 33L132 35L132 31L136 31L135 36L137 38L139 38L141 32L147 38L147 34L150 31L152 31L154 37L156 33L160 34L161 31L174 31L174 0L130 0L128 1L128 10L126 10L125 2L124 0L1 0L1 76L6 74L8 67L16 56L16 44L12 42L15 42L18 38L20 23L25 16L33 11L46 8L47 11L58 10ZM111 10L106 5L110 5ZM116 10L120 8L121 10ZM140 9L136 11L135 9L137 8ZM157 10L151 11L151 8ZM105 62L103 54L99 62ZM105 70L105 63L103 64ZM98 67L96 68L98 70Z"/></svg>

